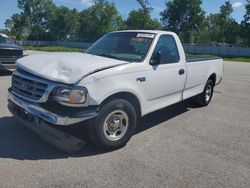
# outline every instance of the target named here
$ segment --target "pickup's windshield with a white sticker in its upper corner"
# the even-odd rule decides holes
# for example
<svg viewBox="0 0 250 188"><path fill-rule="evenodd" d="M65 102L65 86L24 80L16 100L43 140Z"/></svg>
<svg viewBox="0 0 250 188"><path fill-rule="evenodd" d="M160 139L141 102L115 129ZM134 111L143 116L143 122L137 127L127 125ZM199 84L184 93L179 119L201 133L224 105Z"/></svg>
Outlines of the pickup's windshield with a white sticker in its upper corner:
<svg viewBox="0 0 250 188"><path fill-rule="evenodd" d="M145 58L155 37L152 33L109 33L93 44L86 53L131 62Z"/></svg>

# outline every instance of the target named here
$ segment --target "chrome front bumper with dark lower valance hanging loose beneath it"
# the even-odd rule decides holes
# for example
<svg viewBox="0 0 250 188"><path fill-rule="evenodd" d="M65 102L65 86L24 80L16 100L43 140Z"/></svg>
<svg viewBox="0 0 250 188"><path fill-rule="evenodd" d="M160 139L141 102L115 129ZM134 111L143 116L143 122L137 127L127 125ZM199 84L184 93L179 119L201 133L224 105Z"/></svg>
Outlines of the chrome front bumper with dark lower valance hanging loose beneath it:
<svg viewBox="0 0 250 188"><path fill-rule="evenodd" d="M84 140L60 130L59 127L79 123L97 115L96 111L92 111L76 114L74 117L63 117L36 104L28 103L10 91L8 93L8 109L19 122L39 135L44 141L70 154L80 151L86 143Z"/></svg>

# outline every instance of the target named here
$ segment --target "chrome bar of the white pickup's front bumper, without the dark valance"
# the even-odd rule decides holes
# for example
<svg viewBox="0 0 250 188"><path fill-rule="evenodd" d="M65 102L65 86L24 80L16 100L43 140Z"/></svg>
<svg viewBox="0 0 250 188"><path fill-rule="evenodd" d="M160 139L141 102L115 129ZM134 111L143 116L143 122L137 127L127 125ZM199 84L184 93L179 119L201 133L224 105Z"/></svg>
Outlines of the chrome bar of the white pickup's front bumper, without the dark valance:
<svg viewBox="0 0 250 188"><path fill-rule="evenodd" d="M84 111L82 113L77 113L74 116L61 116L55 113L52 113L41 106L27 102L14 94L11 93L11 90L9 90L8 93L8 100L16 105L17 107L21 108L24 112L31 114L34 117L38 117L42 120L44 120L47 123L53 124L53 125L72 125L76 124L88 119L92 119L97 116L97 111ZM10 110L11 112L13 110ZM16 114L14 114L16 115Z"/></svg>

